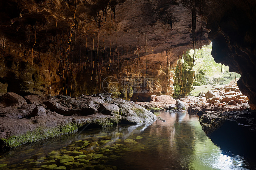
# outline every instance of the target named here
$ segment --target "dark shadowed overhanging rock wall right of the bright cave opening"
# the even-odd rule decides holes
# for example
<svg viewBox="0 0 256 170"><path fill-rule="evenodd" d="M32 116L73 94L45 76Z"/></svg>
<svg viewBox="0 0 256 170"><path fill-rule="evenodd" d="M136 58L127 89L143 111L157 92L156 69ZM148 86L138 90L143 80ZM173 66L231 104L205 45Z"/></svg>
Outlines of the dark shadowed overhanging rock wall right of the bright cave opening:
<svg viewBox="0 0 256 170"><path fill-rule="evenodd" d="M252 109L256 109L255 8L256 2L251 0L203 1L201 10L206 28L211 30L213 58L228 65L230 72L241 74L237 85L249 97Z"/></svg>

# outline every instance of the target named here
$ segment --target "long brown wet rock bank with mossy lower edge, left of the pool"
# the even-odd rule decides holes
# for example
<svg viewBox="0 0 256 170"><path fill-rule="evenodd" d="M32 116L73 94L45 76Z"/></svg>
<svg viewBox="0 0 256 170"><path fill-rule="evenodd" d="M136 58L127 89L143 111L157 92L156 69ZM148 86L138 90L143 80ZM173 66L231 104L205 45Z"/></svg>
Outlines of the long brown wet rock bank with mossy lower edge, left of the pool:
<svg viewBox="0 0 256 170"><path fill-rule="evenodd" d="M13 98L17 98L15 93L11 94ZM44 101L42 105L35 101L33 104L23 104L17 108L17 104L12 102L8 107L0 107L1 146L15 147L71 133L88 123L110 126L118 123L149 123L156 120L152 112L132 101L111 98L111 93L96 96L102 96L103 100L93 96L61 99L49 97L50 100ZM17 100L19 105L23 100L23 103L26 102L20 97Z"/></svg>

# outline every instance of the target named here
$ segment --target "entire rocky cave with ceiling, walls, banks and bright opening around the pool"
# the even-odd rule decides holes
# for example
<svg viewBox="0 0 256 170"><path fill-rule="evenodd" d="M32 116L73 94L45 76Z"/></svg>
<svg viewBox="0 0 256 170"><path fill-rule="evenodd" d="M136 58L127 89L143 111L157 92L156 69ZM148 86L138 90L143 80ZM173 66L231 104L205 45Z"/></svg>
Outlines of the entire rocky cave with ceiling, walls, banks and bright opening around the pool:
<svg viewBox="0 0 256 170"><path fill-rule="evenodd" d="M180 109L222 149L255 149L255 11L253 0L1 1L1 147Z"/></svg>

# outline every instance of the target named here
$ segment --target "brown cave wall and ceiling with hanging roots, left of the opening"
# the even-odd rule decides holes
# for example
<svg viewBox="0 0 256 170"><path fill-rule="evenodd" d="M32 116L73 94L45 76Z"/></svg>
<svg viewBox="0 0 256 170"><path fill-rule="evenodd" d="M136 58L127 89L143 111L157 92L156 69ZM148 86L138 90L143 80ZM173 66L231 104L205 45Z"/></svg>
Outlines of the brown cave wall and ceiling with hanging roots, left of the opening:
<svg viewBox="0 0 256 170"><path fill-rule="evenodd" d="M23 96L96 93L108 76L155 78L132 100L172 95L177 60L193 48L183 1L8 0L0 10L0 82ZM209 44L206 23L196 26L196 46Z"/></svg>

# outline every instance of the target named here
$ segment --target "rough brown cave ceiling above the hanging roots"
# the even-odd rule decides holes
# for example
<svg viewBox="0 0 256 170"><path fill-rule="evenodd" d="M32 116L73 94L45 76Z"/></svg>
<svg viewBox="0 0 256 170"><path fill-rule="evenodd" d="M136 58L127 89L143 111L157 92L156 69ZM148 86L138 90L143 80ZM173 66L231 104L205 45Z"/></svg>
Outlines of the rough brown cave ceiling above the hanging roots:
<svg viewBox="0 0 256 170"><path fill-rule="evenodd" d="M68 45L72 53L89 50L115 55L171 52L173 61L193 48L191 7L182 1L161 0L9 0L0 2L0 37L34 51L50 43ZM195 47L209 44L210 30L196 17ZM60 40L67 36L63 42ZM36 42L35 42L36 37ZM147 47L146 47L147 41ZM57 44L57 43L56 43ZM138 48L139 47L139 48ZM137 52L138 50L138 52ZM161 60L158 57L156 60Z"/></svg>

